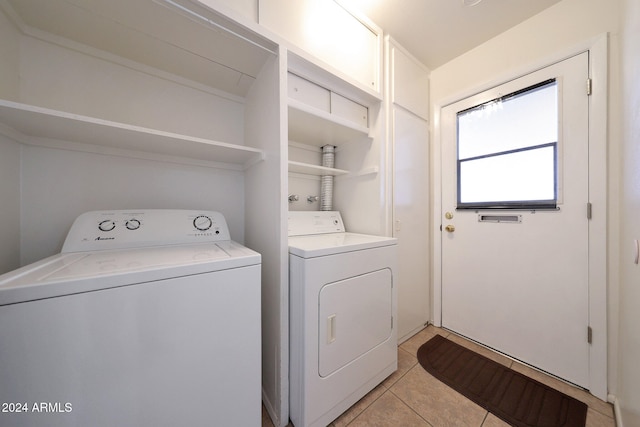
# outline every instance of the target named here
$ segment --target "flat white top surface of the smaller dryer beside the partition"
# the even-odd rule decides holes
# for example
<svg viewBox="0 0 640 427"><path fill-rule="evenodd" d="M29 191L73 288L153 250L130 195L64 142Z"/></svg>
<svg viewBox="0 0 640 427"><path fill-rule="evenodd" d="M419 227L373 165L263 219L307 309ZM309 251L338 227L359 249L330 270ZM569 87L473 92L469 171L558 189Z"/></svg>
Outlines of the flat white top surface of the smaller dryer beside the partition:
<svg viewBox="0 0 640 427"><path fill-rule="evenodd" d="M314 258L344 252L360 251L397 244L395 237L358 233L331 233L289 237L289 253Z"/></svg>

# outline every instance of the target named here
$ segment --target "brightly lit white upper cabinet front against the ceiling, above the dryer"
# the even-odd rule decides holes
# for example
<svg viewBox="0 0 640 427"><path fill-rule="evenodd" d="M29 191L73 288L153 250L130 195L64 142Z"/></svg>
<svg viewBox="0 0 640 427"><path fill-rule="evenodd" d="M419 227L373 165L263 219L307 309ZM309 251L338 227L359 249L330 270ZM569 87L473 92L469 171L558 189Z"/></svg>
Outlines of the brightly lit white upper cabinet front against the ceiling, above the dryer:
<svg viewBox="0 0 640 427"><path fill-rule="evenodd" d="M362 87L380 92L382 30L334 0L261 0L259 22Z"/></svg>

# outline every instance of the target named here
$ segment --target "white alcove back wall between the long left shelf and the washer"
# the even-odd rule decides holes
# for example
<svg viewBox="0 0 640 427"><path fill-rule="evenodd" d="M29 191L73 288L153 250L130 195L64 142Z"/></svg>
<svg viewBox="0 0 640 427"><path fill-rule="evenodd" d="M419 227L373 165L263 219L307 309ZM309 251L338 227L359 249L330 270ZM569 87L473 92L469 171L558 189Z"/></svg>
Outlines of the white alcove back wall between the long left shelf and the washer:
<svg viewBox="0 0 640 427"><path fill-rule="evenodd" d="M22 265L60 252L73 220L90 210L217 210L244 241L239 171L25 146L21 181Z"/></svg>

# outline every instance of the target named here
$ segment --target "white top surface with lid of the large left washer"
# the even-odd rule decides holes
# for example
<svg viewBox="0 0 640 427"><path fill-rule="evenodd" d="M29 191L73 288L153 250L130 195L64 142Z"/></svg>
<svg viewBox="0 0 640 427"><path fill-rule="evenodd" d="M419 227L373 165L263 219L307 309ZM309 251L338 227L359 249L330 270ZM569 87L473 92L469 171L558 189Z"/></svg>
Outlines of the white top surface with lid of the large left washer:
<svg viewBox="0 0 640 427"><path fill-rule="evenodd" d="M233 241L59 254L0 276L0 306L260 262Z"/></svg>

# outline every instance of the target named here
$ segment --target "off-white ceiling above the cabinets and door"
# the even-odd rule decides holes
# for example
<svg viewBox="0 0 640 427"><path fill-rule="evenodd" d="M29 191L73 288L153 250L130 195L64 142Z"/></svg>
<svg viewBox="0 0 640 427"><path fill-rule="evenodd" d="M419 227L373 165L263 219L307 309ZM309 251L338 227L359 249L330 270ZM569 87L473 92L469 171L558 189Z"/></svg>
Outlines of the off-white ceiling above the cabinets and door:
<svg viewBox="0 0 640 427"><path fill-rule="evenodd" d="M469 0L467 0L469 1ZM561 0L340 0L390 34L431 70Z"/></svg>

